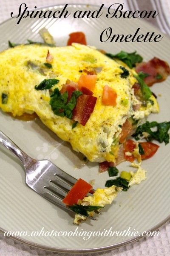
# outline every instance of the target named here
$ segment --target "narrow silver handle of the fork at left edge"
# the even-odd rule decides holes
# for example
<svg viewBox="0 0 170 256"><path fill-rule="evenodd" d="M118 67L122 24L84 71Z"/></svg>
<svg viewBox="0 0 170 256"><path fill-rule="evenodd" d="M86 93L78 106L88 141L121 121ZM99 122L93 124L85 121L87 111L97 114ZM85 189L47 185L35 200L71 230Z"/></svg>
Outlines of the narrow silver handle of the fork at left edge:
<svg viewBox="0 0 170 256"><path fill-rule="evenodd" d="M15 154L24 165L28 164L28 162L31 160L31 157L24 153L12 140L3 134L2 131L0 131L0 143Z"/></svg>

